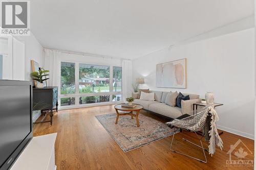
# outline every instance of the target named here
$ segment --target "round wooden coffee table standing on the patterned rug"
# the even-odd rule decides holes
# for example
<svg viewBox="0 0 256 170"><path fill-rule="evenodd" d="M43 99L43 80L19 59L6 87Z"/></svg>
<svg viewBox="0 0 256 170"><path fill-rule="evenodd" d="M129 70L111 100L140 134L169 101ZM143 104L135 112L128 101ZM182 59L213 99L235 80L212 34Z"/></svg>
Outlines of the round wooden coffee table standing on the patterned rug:
<svg viewBox="0 0 256 170"><path fill-rule="evenodd" d="M139 123L139 114L140 114L140 110L143 109L143 106L141 105L136 105L136 107L134 108L129 108L129 107L122 107L122 105L124 104L119 104L119 105L116 105L114 108L116 109L116 124L118 122L118 118L119 116L124 116L124 115L131 115L132 119L133 119L133 116L136 117L136 123L137 123L137 127L140 126L140 123ZM124 113L119 113L119 111L125 111ZM136 114L133 114L133 112L136 112Z"/></svg>

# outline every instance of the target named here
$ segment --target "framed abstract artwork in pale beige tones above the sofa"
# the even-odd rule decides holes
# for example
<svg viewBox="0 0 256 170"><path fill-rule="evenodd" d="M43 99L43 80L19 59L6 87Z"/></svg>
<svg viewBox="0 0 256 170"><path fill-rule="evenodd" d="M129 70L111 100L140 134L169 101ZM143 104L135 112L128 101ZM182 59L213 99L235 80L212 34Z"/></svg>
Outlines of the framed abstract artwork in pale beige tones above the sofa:
<svg viewBox="0 0 256 170"><path fill-rule="evenodd" d="M156 86L166 88L187 87L186 58L157 64Z"/></svg>

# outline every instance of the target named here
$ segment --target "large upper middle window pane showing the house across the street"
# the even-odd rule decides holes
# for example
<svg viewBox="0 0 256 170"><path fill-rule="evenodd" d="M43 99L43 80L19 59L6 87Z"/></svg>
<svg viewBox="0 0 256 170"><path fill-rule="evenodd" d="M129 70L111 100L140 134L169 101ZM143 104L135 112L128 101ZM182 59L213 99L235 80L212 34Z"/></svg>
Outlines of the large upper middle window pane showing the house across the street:
<svg viewBox="0 0 256 170"><path fill-rule="evenodd" d="M110 66L79 64L79 93L110 92Z"/></svg>

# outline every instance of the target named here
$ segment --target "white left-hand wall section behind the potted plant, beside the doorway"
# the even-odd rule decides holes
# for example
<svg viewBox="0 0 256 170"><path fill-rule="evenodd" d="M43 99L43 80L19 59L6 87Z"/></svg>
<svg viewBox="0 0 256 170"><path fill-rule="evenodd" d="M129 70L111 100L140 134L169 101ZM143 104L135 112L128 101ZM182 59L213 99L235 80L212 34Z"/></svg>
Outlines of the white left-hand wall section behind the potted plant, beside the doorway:
<svg viewBox="0 0 256 170"><path fill-rule="evenodd" d="M29 81L32 71L31 60L39 63L39 66L44 65L43 48L32 33L30 36L16 36L15 38L25 42L25 80Z"/></svg>

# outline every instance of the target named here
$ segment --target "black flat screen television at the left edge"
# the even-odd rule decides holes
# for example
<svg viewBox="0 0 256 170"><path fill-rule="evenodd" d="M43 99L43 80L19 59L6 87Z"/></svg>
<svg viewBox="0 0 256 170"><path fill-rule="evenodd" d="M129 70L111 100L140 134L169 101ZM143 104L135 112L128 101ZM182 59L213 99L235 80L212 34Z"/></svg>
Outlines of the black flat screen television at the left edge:
<svg viewBox="0 0 256 170"><path fill-rule="evenodd" d="M11 168L32 136L32 82L0 80L0 170Z"/></svg>

